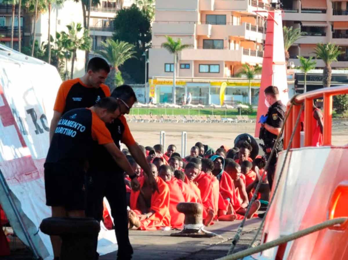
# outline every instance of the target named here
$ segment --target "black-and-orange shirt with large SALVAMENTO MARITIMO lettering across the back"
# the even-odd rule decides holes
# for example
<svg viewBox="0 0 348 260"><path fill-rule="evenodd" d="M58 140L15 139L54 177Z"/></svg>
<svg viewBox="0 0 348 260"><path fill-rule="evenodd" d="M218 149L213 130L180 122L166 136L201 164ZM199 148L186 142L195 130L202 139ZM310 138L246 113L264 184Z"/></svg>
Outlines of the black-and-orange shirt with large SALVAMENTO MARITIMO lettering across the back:
<svg viewBox="0 0 348 260"><path fill-rule="evenodd" d="M111 134L95 112L88 108L73 109L58 121L46 163L69 163L79 167L89 159L96 144L109 143L113 143Z"/></svg>

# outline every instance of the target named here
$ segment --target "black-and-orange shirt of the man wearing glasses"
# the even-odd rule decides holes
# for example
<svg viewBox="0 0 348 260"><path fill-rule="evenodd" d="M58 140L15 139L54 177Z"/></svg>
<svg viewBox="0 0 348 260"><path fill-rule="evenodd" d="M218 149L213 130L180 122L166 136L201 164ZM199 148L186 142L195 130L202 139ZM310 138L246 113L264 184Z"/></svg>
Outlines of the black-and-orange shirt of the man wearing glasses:
<svg viewBox="0 0 348 260"><path fill-rule="evenodd" d="M114 119L111 124L106 124L106 127L111 133L113 142L119 149L120 143L123 143L128 147L136 144L132 133L129 130L127 120L123 115L119 116L117 119ZM91 171L102 170L105 172L124 172L121 170L121 168L119 168L104 147L98 146L96 149L94 160L90 161ZM100 163L101 161L103 164Z"/></svg>

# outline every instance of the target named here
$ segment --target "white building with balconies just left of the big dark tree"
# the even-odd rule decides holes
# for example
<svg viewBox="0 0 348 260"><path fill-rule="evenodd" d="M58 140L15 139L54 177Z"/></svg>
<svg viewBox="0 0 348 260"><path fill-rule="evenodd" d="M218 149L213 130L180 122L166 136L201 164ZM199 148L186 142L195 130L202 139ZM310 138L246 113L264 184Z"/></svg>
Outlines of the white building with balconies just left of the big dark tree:
<svg viewBox="0 0 348 260"><path fill-rule="evenodd" d="M93 39L93 50L101 49L101 42L111 38L114 33L112 20L115 18L118 10L129 8L135 3L135 0L110 0L100 1L100 4L93 6L90 13L90 32L89 35Z"/></svg>

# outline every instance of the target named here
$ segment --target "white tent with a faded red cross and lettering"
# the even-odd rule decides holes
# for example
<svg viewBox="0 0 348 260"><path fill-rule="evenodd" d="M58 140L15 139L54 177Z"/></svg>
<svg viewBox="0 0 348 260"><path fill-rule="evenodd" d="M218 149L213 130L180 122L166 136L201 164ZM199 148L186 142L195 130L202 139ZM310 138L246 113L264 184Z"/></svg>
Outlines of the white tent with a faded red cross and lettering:
<svg viewBox="0 0 348 260"><path fill-rule="evenodd" d="M39 225L51 214L44 162L61 82L54 66L0 45L0 204L19 239L42 259L52 259Z"/></svg>

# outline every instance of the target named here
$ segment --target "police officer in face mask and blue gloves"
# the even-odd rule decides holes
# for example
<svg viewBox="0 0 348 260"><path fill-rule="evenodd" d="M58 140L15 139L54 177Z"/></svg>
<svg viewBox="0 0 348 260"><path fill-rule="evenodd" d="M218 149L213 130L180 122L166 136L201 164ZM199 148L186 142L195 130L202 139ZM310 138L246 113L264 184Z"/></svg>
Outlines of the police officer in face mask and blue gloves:
<svg viewBox="0 0 348 260"><path fill-rule="evenodd" d="M280 139L276 145L276 151L270 158L272 148L277 139L277 136L282 130L282 126L285 118L286 108L279 100L279 90L275 86L269 86L264 90L264 102L268 107L266 116L261 116L260 123L260 139L264 143L264 152L266 154L266 160L270 160L268 166L267 178L270 189L272 189L273 177L278 159L278 152L283 150L283 140Z"/></svg>

